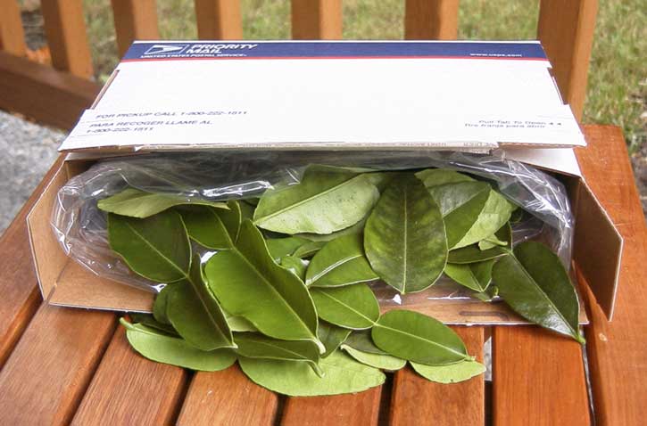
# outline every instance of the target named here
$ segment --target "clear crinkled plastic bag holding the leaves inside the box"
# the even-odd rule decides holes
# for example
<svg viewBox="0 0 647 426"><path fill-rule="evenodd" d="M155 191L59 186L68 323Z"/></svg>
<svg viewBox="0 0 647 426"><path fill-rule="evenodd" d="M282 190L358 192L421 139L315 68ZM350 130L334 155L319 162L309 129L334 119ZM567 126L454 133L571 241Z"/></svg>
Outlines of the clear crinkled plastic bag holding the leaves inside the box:
<svg viewBox="0 0 647 426"><path fill-rule="evenodd" d="M68 256L93 273L159 291L163 283L152 283L132 273L112 252L106 216L96 207L98 200L128 186L212 201L254 198L272 185L299 183L309 164L375 170L448 168L478 176L530 214L530 218L513 225L514 242L545 242L568 268L574 220L564 186L524 163L466 152L166 152L100 160L59 190L52 226ZM204 251L197 246L195 249ZM386 284L377 283L374 290L384 304L470 297L467 289L447 278L427 291L406 297Z"/></svg>

